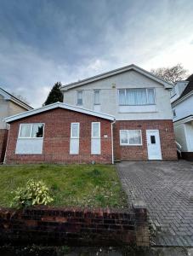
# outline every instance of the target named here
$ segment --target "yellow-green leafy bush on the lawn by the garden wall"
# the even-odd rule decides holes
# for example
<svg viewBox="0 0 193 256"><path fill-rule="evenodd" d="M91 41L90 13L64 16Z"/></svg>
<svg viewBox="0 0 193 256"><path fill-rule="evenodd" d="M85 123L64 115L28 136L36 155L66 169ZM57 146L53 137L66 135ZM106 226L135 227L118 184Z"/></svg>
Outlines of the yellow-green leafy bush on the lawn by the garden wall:
<svg viewBox="0 0 193 256"><path fill-rule="evenodd" d="M48 205L53 198L48 193L48 187L43 181L28 180L24 188L18 188L14 194L11 207L31 207L35 205Z"/></svg>

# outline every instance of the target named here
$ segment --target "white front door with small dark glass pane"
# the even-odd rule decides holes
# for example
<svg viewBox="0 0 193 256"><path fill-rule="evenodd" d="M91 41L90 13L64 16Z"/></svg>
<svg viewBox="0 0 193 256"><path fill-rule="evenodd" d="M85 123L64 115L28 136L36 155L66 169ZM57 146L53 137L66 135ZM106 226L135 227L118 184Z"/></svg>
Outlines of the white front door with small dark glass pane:
<svg viewBox="0 0 193 256"><path fill-rule="evenodd" d="M159 130L147 130L147 151L149 160L162 160Z"/></svg>

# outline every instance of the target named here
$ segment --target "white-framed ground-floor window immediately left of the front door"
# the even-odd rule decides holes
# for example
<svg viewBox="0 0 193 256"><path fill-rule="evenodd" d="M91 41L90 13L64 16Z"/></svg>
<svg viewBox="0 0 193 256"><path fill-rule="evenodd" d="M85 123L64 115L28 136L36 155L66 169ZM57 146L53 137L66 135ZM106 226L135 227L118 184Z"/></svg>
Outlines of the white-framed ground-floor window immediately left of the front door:
<svg viewBox="0 0 193 256"><path fill-rule="evenodd" d="M126 146L142 145L141 130L120 130L120 144Z"/></svg>

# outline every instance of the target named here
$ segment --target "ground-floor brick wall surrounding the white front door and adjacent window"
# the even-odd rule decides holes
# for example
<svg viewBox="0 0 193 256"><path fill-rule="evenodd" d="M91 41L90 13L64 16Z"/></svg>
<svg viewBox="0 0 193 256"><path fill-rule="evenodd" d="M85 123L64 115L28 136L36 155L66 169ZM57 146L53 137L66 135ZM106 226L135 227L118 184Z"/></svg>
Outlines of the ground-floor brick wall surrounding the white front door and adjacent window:
<svg viewBox="0 0 193 256"><path fill-rule="evenodd" d="M120 146L120 130L141 130L142 146ZM119 160L148 160L146 130L159 130L162 160L177 160L172 120L116 121L113 130L115 158Z"/></svg>

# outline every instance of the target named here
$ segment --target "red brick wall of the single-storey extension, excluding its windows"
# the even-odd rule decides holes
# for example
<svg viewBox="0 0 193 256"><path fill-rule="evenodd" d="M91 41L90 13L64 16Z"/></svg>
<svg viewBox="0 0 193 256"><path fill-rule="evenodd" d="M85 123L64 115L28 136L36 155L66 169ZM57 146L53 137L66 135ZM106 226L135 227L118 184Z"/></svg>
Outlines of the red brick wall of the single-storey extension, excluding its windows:
<svg viewBox="0 0 193 256"><path fill-rule="evenodd" d="M43 154L15 154L18 131L21 123L45 123ZM69 154L71 123L80 123L79 154ZM101 154L91 154L91 123L100 122ZM107 137L104 137L107 135ZM23 163L111 163L111 121L84 113L57 108L38 113L10 125L6 153L7 164Z"/></svg>

